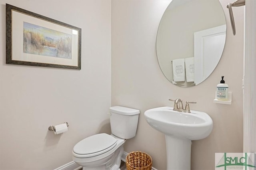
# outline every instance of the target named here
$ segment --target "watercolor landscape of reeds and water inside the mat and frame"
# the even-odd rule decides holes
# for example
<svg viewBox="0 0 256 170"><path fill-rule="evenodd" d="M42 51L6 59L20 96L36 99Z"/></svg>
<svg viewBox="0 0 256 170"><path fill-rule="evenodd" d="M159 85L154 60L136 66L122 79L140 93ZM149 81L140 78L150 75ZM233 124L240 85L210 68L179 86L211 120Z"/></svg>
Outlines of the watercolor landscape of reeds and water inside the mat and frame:
<svg viewBox="0 0 256 170"><path fill-rule="evenodd" d="M23 52L72 59L72 35L23 22Z"/></svg>

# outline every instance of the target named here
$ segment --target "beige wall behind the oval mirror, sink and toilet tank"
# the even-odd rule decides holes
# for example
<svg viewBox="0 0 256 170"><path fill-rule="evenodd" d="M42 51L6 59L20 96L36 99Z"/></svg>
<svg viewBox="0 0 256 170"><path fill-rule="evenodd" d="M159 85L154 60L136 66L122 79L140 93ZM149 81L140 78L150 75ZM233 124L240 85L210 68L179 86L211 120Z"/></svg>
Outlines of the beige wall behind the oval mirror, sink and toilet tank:
<svg viewBox="0 0 256 170"><path fill-rule="evenodd" d="M213 170L215 152L242 152L243 146L243 7L236 8L236 36L232 35L226 5L227 22L224 52L214 72L198 86L180 88L162 74L156 57L158 24L170 1L112 1L112 105L141 111L135 138L126 141L125 151L141 150L152 156L153 166L166 169L164 134L150 127L144 112L150 108L173 106L169 98L196 101L192 110L208 113L214 122L210 136L192 142L191 169ZM213 103L221 76L232 91L232 105Z"/></svg>

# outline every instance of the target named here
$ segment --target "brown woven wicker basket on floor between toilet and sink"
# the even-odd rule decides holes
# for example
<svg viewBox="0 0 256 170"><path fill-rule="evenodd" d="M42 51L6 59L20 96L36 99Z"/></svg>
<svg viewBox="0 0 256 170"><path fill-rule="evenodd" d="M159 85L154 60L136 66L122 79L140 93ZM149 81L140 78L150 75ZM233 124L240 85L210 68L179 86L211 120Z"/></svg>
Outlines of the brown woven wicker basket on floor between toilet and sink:
<svg viewBox="0 0 256 170"><path fill-rule="evenodd" d="M126 156L127 170L151 170L152 158L145 152L130 152Z"/></svg>

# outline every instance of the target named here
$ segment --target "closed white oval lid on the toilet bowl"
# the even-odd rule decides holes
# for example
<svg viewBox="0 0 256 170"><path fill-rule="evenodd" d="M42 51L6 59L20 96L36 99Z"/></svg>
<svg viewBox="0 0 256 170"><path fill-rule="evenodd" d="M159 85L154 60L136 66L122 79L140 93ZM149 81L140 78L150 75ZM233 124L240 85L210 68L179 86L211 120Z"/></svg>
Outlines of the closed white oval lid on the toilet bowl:
<svg viewBox="0 0 256 170"><path fill-rule="evenodd" d="M76 154L92 154L96 156L111 150L114 146L116 146L116 138L102 133L81 140L74 146L73 152Z"/></svg>

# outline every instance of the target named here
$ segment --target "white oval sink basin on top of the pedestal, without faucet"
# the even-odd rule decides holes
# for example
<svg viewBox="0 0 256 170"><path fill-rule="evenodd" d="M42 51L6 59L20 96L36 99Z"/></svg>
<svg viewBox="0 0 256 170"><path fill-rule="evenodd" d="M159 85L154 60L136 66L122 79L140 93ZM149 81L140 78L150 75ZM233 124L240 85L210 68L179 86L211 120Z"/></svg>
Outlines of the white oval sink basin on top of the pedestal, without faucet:
<svg viewBox="0 0 256 170"><path fill-rule="evenodd" d="M160 107L144 113L146 121L156 130L189 140L206 138L212 132L212 119L204 112L184 113L172 110L172 107Z"/></svg>

